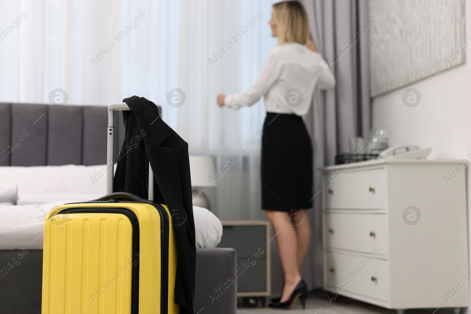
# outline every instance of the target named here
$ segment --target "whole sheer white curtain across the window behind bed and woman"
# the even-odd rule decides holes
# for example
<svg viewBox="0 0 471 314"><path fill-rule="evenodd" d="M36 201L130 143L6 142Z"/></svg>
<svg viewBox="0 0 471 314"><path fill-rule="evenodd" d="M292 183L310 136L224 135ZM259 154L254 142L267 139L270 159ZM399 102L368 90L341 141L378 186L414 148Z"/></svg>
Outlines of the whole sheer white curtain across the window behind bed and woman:
<svg viewBox="0 0 471 314"><path fill-rule="evenodd" d="M49 103L56 88L73 105L146 97L162 105L191 154L212 155L217 166L234 161L207 188L216 215L263 218L261 139L239 160L229 157L261 129L263 101L236 112L215 99L247 88L276 46L271 2L0 0L0 101ZM183 106L168 104L174 88L184 91Z"/></svg>

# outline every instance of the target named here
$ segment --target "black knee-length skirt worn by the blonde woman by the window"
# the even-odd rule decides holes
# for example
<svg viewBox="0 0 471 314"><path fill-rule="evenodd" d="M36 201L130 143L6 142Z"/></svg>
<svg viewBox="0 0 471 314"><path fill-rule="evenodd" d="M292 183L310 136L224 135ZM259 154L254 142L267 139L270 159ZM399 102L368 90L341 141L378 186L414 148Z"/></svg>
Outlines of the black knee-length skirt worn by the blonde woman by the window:
<svg viewBox="0 0 471 314"><path fill-rule="evenodd" d="M311 139L302 118L267 113L262 136L262 209L311 208L312 164Z"/></svg>

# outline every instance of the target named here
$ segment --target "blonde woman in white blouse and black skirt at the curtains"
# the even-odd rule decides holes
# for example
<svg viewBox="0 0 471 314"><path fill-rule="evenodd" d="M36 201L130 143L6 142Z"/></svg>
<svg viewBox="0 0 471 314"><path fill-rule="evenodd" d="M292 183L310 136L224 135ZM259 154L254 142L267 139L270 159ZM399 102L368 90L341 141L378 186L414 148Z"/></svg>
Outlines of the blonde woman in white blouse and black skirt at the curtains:
<svg viewBox="0 0 471 314"><path fill-rule="evenodd" d="M308 16L300 2L274 4L268 23L279 46L268 53L259 77L242 93L218 95L217 102L238 109L265 97L262 209L273 225L284 271L281 298L270 306L291 308L300 298L304 307L307 285L300 268L310 241L307 209L312 207L313 161L311 140L301 116L309 111L316 84L332 88L335 79L309 40Z"/></svg>

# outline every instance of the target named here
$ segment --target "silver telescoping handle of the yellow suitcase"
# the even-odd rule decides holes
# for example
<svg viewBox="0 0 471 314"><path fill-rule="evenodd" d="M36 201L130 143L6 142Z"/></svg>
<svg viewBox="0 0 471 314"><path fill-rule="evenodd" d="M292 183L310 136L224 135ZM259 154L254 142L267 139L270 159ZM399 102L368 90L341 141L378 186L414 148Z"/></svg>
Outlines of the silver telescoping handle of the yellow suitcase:
<svg viewBox="0 0 471 314"><path fill-rule="evenodd" d="M130 110L126 103L116 103L108 105L108 144L106 150L106 160L108 169L106 173L106 194L113 193L113 177L114 177L114 112L116 110ZM154 201L154 172L149 162L149 200Z"/></svg>

